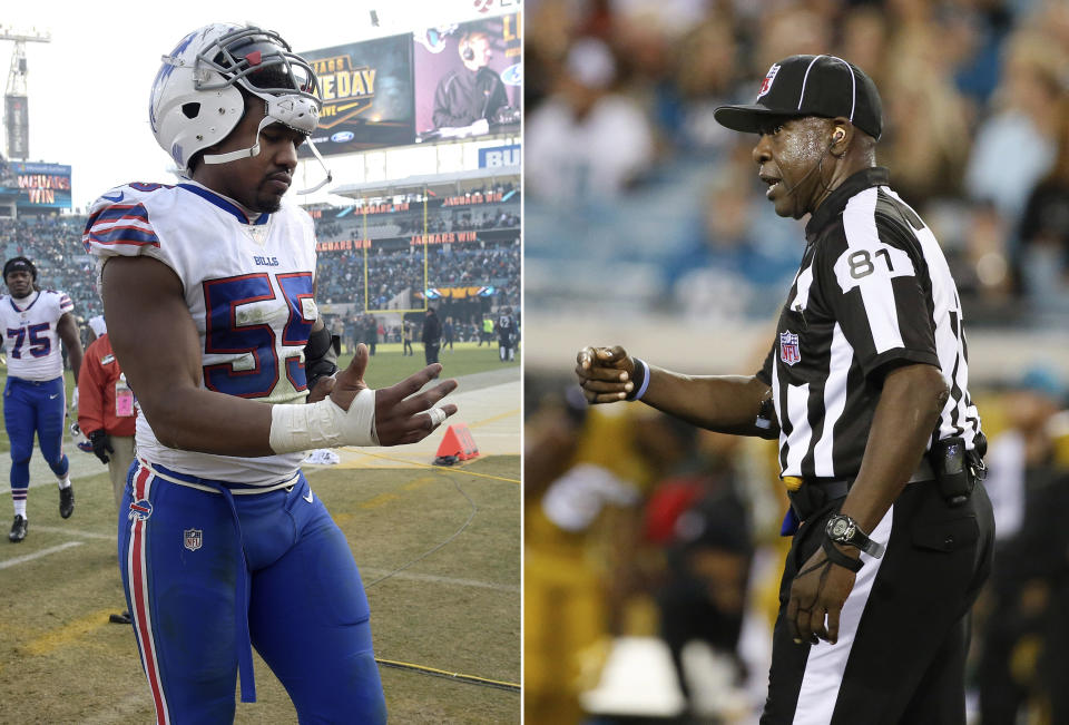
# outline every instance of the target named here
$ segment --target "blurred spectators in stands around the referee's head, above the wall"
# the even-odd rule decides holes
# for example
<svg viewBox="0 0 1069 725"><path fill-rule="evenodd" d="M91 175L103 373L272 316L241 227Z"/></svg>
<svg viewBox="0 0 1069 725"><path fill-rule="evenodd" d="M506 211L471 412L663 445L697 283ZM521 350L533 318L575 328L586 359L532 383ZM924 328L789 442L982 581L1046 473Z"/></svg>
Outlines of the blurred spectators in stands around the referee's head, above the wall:
<svg viewBox="0 0 1069 725"><path fill-rule="evenodd" d="M775 60L833 52L881 89L877 160L935 229L973 321L1069 310L1065 2L541 0L526 25L532 297L570 284L555 263L581 254L644 265L643 304L767 316L798 231L755 193L752 139L713 110L753 102Z"/></svg>

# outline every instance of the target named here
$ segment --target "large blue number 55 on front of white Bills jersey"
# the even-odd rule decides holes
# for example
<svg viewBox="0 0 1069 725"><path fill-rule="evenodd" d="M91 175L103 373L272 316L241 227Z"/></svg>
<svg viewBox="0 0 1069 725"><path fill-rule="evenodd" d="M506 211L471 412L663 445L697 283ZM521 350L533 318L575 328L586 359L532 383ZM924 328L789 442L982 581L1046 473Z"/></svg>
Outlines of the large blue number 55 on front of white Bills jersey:
<svg viewBox="0 0 1069 725"><path fill-rule="evenodd" d="M252 355L254 364L248 370L236 369L233 362L204 366L204 384L214 390L239 398L271 398L278 385L282 370L296 391L307 388L304 363L300 350L286 355L283 347L304 347L312 332L314 320L303 315L303 300L312 300L312 273L291 274L254 273L224 280L205 282L204 305L206 354ZM282 331L282 341L266 322L243 324L238 308L257 302L286 300L290 319ZM254 307L249 307L249 311ZM253 316L253 315L248 315Z"/></svg>

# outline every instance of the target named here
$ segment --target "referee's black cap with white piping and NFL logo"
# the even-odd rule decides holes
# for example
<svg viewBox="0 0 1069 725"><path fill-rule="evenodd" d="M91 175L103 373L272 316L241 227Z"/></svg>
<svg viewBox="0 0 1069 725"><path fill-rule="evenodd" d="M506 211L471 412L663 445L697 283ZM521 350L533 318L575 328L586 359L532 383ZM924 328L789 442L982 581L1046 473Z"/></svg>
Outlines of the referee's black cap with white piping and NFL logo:
<svg viewBox="0 0 1069 725"><path fill-rule="evenodd" d="M843 116L875 139L883 133L883 104L876 85L861 68L837 56L791 56L772 65L757 100L720 106L722 126L759 134L769 116Z"/></svg>

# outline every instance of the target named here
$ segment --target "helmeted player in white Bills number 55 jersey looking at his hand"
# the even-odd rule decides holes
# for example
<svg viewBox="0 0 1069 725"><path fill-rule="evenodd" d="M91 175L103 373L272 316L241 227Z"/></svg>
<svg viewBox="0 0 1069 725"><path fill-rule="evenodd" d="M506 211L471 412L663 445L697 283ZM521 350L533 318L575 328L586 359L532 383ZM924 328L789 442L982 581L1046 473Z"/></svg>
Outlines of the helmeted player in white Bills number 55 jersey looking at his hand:
<svg viewBox="0 0 1069 725"><path fill-rule="evenodd" d="M232 722L238 674L255 699L251 644L302 722L385 722L356 565L298 463L423 439L457 411L438 405L457 382L419 392L435 364L372 391L365 345L330 378L313 224L284 198L316 91L275 32L188 33L149 112L186 178L116 187L86 226L139 405L119 552L158 723Z"/></svg>

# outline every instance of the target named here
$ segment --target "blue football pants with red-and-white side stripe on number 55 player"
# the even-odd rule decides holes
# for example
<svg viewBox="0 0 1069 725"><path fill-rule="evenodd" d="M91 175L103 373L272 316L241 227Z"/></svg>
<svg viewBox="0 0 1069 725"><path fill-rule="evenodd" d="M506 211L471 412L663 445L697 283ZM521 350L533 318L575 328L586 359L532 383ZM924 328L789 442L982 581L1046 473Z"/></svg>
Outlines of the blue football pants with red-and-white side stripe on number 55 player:
<svg viewBox="0 0 1069 725"><path fill-rule="evenodd" d="M157 723L232 723L239 664L255 697L249 640L302 724L385 723L367 598L326 507L303 473L266 493L223 486L140 460L127 477L119 562Z"/></svg>

